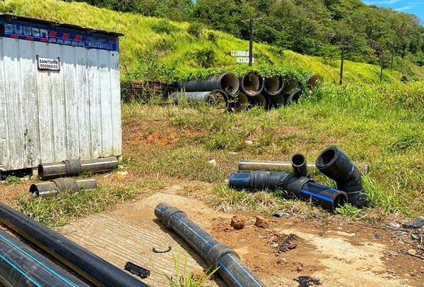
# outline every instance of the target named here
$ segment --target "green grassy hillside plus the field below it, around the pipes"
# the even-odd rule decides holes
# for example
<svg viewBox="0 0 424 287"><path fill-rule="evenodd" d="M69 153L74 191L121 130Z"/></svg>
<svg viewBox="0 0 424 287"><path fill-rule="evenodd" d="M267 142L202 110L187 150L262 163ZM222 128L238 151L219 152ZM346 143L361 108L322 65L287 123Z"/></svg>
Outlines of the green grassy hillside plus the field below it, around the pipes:
<svg viewBox="0 0 424 287"><path fill-rule="evenodd" d="M120 43L123 79L172 80L194 71L208 73L204 70L208 66L212 71L249 68L237 68L230 56L232 49L247 49L247 42L187 23L54 0L6 0L0 3L0 9L105 30L117 28L125 34ZM137 186L157 188L165 185L166 178L186 178L215 185L214 194L204 198L218 207L244 202L254 208L281 209L281 199L259 200L260 195L241 196L226 187L225 180L235 171L237 160L288 160L291 154L302 152L314 161L324 148L336 145L353 161L370 165L370 173L363 175L371 207L365 216L379 219L391 214L422 214L423 82L405 85L399 81L401 73L384 71L384 83L379 85L378 66L346 61L344 83L349 85L339 86L339 61L256 43L254 51L254 68L302 68L322 75L326 85L314 97L302 97L296 105L271 111L254 108L240 114L163 102L123 104L123 130L128 132L128 138L124 137L124 164L141 175L142 183L136 182ZM416 78L424 78L421 68L404 68ZM167 145L143 145L149 136L170 140ZM208 164L212 159L216 166ZM314 176L319 183L333 184L322 175ZM363 216L353 211L354 216L358 214Z"/></svg>

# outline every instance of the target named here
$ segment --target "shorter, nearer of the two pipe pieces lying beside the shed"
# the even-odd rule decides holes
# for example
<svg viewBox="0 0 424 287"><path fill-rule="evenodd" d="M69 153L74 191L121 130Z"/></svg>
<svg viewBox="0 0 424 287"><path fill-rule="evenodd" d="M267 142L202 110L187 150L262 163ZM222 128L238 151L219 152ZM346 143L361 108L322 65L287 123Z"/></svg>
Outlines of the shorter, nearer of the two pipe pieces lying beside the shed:
<svg viewBox="0 0 424 287"><path fill-rule="evenodd" d="M50 197L66 191L76 193L79 190L92 190L97 188L97 186L97 182L93 178L77 180L73 178L56 178L47 183L33 183L30 186L30 193L37 197Z"/></svg>

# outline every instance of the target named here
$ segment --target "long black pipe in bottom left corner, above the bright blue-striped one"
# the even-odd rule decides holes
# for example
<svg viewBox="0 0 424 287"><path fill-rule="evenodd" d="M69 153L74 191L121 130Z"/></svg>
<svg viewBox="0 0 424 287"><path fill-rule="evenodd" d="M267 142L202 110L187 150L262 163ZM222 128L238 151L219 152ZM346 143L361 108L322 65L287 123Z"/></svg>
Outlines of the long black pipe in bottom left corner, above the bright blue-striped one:
<svg viewBox="0 0 424 287"><path fill-rule="evenodd" d="M40 222L0 203L0 222L95 286L148 286Z"/></svg>

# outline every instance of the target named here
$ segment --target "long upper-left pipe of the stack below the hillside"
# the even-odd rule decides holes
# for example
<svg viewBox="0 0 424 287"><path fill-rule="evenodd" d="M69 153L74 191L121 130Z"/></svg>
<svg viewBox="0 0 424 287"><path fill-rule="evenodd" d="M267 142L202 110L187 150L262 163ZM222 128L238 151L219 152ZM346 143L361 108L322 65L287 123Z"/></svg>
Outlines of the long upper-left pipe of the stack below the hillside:
<svg viewBox="0 0 424 287"><path fill-rule="evenodd" d="M238 92L240 83L233 73L223 73L219 77L206 80L191 80L178 83L177 88L186 92L209 92L212 90L223 90L229 94Z"/></svg>

